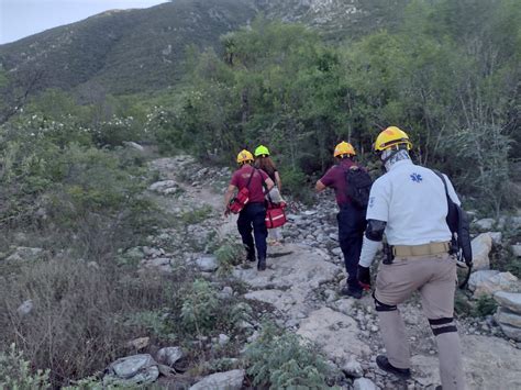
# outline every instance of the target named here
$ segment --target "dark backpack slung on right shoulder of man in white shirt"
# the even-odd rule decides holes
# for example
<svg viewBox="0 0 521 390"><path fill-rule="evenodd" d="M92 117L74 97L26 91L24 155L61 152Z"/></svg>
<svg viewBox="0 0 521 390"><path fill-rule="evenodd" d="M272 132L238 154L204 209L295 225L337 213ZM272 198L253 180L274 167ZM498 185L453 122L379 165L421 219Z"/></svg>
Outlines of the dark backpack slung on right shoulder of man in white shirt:
<svg viewBox="0 0 521 390"><path fill-rule="evenodd" d="M468 218L465 211L463 211L463 209L459 205L454 203L454 201L448 196L448 189L447 189L447 183L445 181L445 177L437 170L433 169L433 171L440 177L440 179L442 179L443 186L445 187L445 196L447 198L447 207L448 207L447 216L445 218L445 221L448 225L448 230L452 233L451 253L453 255L456 255L458 261L465 261L468 268L467 278L463 281L462 285L459 285L459 288L464 288L468 281L468 278L470 276L472 268L473 268L473 248L470 245L470 242L472 242L470 224L468 222Z"/></svg>

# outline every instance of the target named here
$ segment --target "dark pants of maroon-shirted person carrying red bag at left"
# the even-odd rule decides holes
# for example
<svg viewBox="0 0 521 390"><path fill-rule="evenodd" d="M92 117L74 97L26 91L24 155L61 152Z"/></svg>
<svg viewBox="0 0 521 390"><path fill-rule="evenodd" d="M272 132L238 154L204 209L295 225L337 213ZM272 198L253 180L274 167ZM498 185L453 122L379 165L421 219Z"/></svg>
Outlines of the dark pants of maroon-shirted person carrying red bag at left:
<svg viewBox="0 0 521 390"><path fill-rule="evenodd" d="M248 203L239 213L237 230L248 252L248 256L255 255L256 247L258 258L266 258L266 237L268 230L266 229L265 218L266 208L264 203ZM255 237L255 246L252 230Z"/></svg>

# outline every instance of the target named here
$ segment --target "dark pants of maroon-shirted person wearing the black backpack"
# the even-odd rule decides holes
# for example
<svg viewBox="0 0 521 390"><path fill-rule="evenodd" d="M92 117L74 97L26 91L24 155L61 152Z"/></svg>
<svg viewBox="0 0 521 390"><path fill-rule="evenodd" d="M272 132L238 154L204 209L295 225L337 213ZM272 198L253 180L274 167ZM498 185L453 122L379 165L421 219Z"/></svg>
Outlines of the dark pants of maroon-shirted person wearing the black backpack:
<svg viewBox="0 0 521 390"><path fill-rule="evenodd" d="M347 271L347 286L350 290L362 290L358 279L358 260L362 252L362 242L367 225L365 210L352 204L343 205L336 214L339 222L339 243L344 255L345 270Z"/></svg>

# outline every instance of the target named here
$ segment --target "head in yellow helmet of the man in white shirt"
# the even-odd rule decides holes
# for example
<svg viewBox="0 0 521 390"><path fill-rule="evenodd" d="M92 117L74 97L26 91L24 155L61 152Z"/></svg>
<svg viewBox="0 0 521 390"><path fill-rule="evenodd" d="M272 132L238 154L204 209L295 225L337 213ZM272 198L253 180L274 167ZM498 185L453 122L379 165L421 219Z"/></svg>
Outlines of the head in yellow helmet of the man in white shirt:
<svg viewBox="0 0 521 390"><path fill-rule="evenodd" d="M412 143L409 135L397 126L389 126L376 137L373 145L374 151L378 154L381 164L389 170L395 159L409 159L409 151Z"/></svg>

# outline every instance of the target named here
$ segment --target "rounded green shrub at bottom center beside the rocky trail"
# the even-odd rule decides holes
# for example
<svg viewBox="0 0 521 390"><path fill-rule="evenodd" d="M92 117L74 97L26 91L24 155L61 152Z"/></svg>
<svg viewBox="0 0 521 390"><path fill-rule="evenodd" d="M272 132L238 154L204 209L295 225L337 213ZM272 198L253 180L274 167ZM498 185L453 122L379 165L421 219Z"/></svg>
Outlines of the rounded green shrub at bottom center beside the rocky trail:
<svg viewBox="0 0 521 390"><path fill-rule="evenodd" d="M323 389L330 374L324 358L300 336L268 324L246 349L253 385L274 389Z"/></svg>

